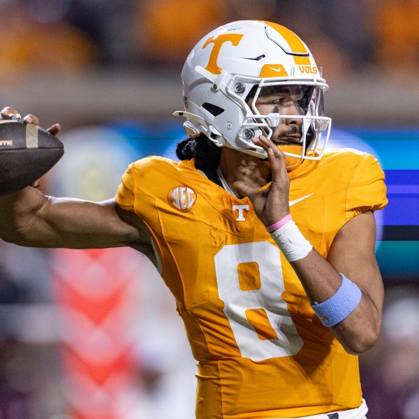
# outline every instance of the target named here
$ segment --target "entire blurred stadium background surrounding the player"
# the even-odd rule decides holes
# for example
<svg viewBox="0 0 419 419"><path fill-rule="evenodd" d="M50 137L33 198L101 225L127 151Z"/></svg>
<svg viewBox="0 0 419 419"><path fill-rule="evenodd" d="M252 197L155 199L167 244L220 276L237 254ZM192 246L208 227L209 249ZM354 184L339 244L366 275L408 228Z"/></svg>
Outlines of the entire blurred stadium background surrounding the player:
<svg viewBox="0 0 419 419"><path fill-rule="evenodd" d="M418 0L0 0L1 101L62 126L44 191L110 198L131 161L174 156L184 59L241 19L302 37L330 84L332 145L381 161L385 312L362 381L369 419L419 418ZM194 417L195 362L145 258L0 242L0 279L1 419Z"/></svg>

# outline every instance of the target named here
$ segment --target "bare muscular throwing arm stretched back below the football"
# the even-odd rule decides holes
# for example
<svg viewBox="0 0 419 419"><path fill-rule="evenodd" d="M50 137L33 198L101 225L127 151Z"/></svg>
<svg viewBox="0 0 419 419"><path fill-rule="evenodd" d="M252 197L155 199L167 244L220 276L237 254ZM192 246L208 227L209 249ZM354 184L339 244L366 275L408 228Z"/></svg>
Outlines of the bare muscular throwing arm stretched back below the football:
<svg viewBox="0 0 419 419"><path fill-rule="evenodd" d="M126 245L112 205L52 198L28 187L0 197L0 237L24 247L87 249Z"/></svg>

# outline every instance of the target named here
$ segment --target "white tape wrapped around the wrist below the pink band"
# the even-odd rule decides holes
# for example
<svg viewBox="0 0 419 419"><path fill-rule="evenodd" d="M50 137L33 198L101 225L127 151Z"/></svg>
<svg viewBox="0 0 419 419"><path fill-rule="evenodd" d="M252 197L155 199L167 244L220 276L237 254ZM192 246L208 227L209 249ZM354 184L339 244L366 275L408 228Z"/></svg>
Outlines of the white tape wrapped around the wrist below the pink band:
<svg viewBox="0 0 419 419"><path fill-rule="evenodd" d="M305 258L313 249L294 221L288 221L284 226L272 231L270 235L288 262Z"/></svg>

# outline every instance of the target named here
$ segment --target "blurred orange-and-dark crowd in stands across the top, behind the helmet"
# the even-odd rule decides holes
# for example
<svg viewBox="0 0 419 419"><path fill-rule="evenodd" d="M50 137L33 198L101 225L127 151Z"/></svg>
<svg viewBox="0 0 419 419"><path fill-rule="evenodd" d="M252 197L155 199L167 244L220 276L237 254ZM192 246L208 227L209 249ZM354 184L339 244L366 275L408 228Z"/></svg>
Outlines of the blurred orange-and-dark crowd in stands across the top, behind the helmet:
<svg viewBox="0 0 419 419"><path fill-rule="evenodd" d="M0 69L180 67L210 29L242 19L295 31L328 79L419 68L416 0L0 0Z"/></svg>

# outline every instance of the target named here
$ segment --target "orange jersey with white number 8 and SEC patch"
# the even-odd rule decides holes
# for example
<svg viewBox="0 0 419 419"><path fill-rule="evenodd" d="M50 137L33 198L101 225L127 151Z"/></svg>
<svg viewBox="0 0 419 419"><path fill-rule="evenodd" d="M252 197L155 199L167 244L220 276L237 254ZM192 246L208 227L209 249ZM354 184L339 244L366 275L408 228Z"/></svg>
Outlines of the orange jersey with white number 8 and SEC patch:
<svg viewBox="0 0 419 419"><path fill-rule="evenodd" d="M290 177L293 220L325 258L341 226L387 203L377 161L355 150L304 161ZM148 157L129 166L116 199L147 224L175 296L198 360L198 419L360 406L358 357L318 320L248 198L211 182L193 160Z"/></svg>

